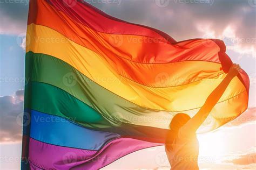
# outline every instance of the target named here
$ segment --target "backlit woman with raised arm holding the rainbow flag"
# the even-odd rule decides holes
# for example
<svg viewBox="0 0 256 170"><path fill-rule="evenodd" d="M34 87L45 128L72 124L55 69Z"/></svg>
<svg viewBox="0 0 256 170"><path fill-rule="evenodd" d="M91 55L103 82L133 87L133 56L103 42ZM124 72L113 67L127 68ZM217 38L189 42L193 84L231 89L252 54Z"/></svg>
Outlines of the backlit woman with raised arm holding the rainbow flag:
<svg viewBox="0 0 256 170"><path fill-rule="evenodd" d="M199 143L196 131L217 104L233 77L237 76L239 70L239 65L232 65L225 79L212 91L194 117L190 118L183 113L173 117L170 123L171 130L165 142L165 152L171 164L171 170L199 169L197 163Z"/></svg>

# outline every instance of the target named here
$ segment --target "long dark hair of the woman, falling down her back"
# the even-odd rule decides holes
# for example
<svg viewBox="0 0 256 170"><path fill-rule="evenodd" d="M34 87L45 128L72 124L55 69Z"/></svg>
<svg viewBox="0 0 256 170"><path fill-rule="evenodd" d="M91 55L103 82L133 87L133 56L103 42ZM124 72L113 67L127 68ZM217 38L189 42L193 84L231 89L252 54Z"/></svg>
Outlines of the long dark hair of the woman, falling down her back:
<svg viewBox="0 0 256 170"><path fill-rule="evenodd" d="M167 134L165 145L167 150L172 150L173 141L178 137L179 129L190 120L190 116L187 114L177 114L172 118L172 121L169 125L170 131Z"/></svg>

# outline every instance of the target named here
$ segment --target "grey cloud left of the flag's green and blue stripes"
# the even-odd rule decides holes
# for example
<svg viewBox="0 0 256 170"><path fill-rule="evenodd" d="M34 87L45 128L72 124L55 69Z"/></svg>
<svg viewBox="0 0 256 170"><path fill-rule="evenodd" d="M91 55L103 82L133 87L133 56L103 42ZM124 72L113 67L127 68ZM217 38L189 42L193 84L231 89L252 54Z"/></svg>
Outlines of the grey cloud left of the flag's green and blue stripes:
<svg viewBox="0 0 256 170"><path fill-rule="evenodd" d="M0 97L0 143L21 141L24 90Z"/></svg>

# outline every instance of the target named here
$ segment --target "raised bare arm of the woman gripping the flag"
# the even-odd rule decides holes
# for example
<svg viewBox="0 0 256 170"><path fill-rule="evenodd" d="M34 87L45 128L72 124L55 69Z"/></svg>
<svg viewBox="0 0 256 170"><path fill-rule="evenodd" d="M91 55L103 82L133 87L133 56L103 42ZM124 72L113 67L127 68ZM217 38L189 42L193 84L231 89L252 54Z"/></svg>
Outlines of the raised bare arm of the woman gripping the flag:
<svg viewBox="0 0 256 170"><path fill-rule="evenodd" d="M220 100L220 97L224 94L224 91L226 90L228 84L231 82L231 80L235 76L237 76L237 74L239 73L239 70L240 70L240 66L237 64L234 64L230 68L225 79L219 84L217 88L215 88L212 91L210 96L208 96L203 107L201 107L201 109L197 112L197 114L194 117L192 117L190 121L188 121L183 126L184 132L186 132L187 134L196 133L199 126L203 124L207 116L210 114L214 105L217 104L217 102Z"/></svg>

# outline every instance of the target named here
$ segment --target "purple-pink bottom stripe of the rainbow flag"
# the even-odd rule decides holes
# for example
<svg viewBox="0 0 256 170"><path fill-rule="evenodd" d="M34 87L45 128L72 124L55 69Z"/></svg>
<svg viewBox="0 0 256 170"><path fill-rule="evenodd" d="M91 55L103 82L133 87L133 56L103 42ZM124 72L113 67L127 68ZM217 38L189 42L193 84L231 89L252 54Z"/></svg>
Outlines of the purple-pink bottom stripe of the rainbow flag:
<svg viewBox="0 0 256 170"><path fill-rule="evenodd" d="M30 164L38 169L99 169L134 151L163 144L118 138L101 150L90 151L46 144L30 138L29 145Z"/></svg>

